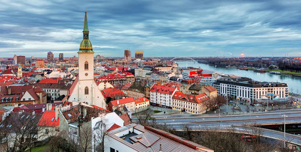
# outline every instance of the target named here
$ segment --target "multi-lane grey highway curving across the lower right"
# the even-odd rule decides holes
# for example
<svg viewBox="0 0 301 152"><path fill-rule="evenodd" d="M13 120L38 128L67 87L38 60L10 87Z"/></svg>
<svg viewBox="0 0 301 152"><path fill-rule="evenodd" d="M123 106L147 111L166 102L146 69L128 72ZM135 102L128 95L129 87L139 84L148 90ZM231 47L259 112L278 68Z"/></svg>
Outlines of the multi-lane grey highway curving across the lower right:
<svg viewBox="0 0 301 152"><path fill-rule="evenodd" d="M284 124L284 116L286 115L286 124L301 124L301 110L285 110L256 113L251 115L228 115L228 116L194 116L194 115L157 115L156 122L166 124L176 130L182 130L184 126L202 131L202 130L218 130L229 131L235 129L236 132L246 133L250 128L239 127L244 125L273 125ZM283 140L284 134L280 131L270 129L257 128L262 131L263 137L269 137L277 140ZM250 131L251 132L251 131ZM286 141L301 145L301 137L286 133Z"/></svg>

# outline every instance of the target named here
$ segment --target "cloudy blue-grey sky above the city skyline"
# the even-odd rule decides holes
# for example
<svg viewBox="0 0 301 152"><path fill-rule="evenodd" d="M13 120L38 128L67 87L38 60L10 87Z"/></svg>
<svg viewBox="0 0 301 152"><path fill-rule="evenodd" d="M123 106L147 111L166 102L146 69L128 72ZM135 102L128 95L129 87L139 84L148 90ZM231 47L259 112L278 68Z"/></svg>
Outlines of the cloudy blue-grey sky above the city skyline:
<svg viewBox="0 0 301 152"><path fill-rule="evenodd" d="M104 56L301 56L300 8L293 0L0 0L0 57L77 55L84 11Z"/></svg>

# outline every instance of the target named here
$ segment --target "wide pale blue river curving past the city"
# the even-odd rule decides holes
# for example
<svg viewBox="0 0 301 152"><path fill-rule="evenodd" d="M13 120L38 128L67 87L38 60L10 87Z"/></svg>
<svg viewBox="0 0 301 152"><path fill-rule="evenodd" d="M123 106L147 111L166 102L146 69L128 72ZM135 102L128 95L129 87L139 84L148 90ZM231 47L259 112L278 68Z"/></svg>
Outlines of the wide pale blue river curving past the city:
<svg viewBox="0 0 301 152"><path fill-rule="evenodd" d="M225 74L234 74L239 77L248 77L256 81L264 82L281 82L286 83L289 89L289 92L300 93L301 91L301 77L292 77L291 75L277 75L271 74L269 72L259 73L254 72L253 70L240 70L236 68L226 68L226 67L215 67L204 63L198 63L193 61L175 61L178 63L179 67L195 67L202 68L204 70L211 70L213 72L221 72Z"/></svg>

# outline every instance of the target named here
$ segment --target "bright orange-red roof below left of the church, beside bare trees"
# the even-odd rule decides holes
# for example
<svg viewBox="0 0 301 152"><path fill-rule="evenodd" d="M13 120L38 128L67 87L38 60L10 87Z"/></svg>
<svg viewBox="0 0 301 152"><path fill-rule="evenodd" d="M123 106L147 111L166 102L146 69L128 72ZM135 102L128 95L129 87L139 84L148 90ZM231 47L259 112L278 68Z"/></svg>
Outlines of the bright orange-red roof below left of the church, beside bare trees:
<svg viewBox="0 0 301 152"><path fill-rule="evenodd" d="M59 118L55 120L55 107L52 110L45 111L42 118L40 119L38 126L45 127L57 127L59 126Z"/></svg>

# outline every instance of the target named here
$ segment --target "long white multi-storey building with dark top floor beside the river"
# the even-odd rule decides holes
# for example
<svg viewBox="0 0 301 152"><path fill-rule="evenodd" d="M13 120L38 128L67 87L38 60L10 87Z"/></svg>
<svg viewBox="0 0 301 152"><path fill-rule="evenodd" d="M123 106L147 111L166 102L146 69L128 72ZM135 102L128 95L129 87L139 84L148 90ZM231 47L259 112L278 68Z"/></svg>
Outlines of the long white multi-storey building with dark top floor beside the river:
<svg viewBox="0 0 301 152"><path fill-rule="evenodd" d="M287 99L288 87L279 82L257 82L250 78L223 78L213 83L217 93L240 101Z"/></svg>

